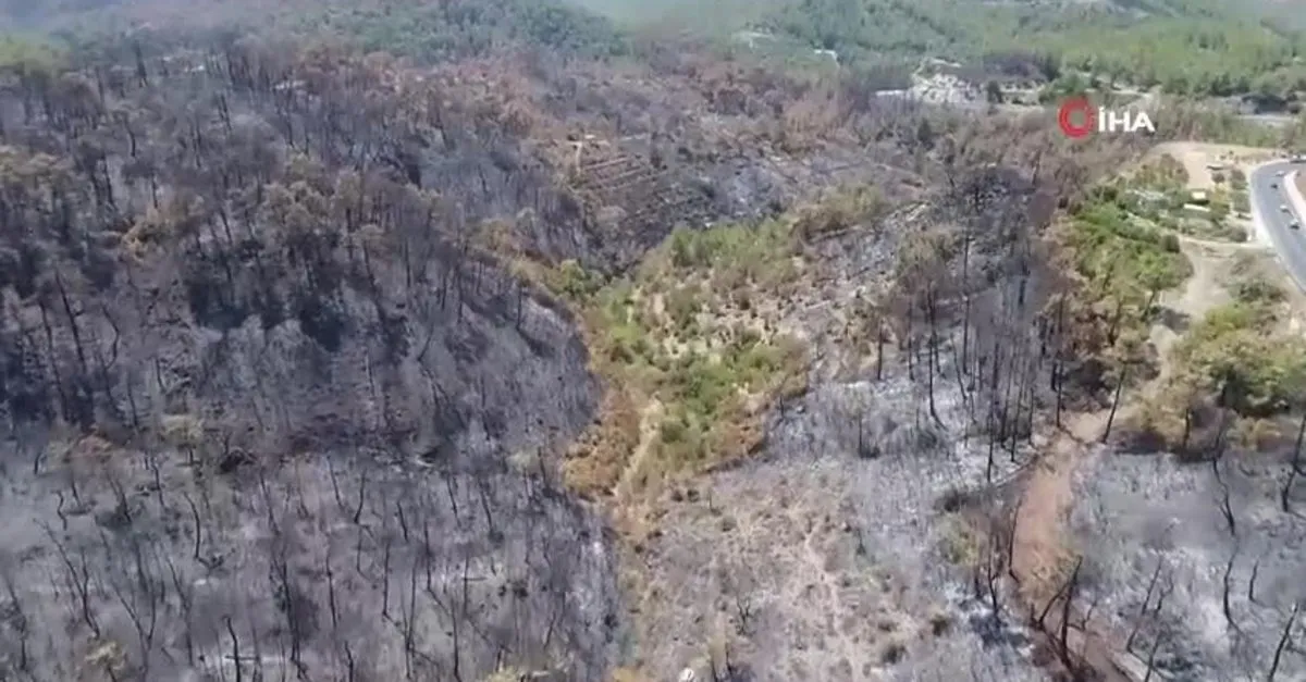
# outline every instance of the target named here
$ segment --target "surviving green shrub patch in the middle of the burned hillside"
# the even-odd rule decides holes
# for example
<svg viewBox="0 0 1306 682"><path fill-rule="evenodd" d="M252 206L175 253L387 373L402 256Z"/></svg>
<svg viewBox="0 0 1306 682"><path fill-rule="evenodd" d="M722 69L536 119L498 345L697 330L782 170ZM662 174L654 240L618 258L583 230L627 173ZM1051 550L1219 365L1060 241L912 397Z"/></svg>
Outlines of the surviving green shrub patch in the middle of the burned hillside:
<svg viewBox="0 0 1306 682"><path fill-rule="evenodd" d="M747 455L771 401L806 385L802 345L752 308L793 282L795 222L678 229L633 273L609 282L575 263L546 276L581 312L609 391L627 396L643 419L657 418L645 425L653 438L635 463L640 485ZM619 417L628 421L629 410ZM610 459L602 449L594 443L577 457ZM610 490L626 465L573 469L603 472L584 486Z"/></svg>

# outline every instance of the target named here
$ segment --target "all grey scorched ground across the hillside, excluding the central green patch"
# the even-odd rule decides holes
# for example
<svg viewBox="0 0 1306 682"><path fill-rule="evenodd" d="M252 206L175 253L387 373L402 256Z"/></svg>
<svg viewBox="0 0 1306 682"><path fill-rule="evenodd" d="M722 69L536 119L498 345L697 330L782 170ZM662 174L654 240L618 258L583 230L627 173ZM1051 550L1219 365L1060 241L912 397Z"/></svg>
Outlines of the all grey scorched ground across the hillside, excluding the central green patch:
<svg viewBox="0 0 1306 682"><path fill-rule="evenodd" d="M330 50L118 56L0 84L0 678L1051 675L976 530L1019 498L1068 362L1041 327L1057 192L1038 163L957 161L993 136L935 148L917 107L738 65L669 67L662 88ZM643 111L649 93L705 114ZM786 98L829 120L764 138L754 114ZM846 149L814 142L827 123ZM585 129L619 144L568 166ZM922 201L923 175L948 191ZM845 179L899 209L806 244L810 286L772 306L808 344L808 392L620 547L551 459L603 387L513 259L620 272L678 221ZM474 247L485 221L513 248ZM1237 533L1209 468L1092 463L1080 604L1127 632L1164 558L1175 587L1134 649L1160 634L1182 679L1266 674L1301 567L1281 463L1225 460ZM1279 679L1301 670L1285 647Z"/></svg>

